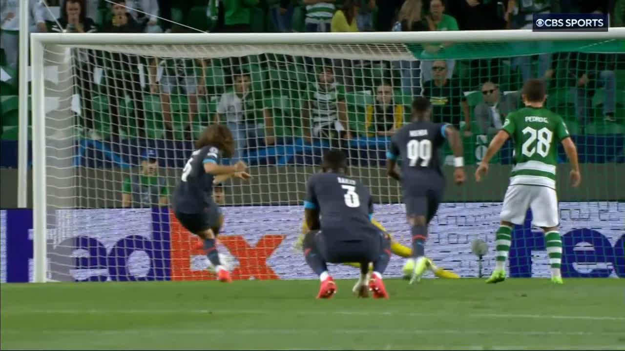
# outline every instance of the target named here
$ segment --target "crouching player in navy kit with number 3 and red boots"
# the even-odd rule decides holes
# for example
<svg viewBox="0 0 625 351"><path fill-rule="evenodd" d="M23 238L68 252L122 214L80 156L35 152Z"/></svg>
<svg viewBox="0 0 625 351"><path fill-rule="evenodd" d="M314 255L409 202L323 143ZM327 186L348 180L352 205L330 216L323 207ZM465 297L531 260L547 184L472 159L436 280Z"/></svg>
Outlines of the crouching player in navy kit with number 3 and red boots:
<svg viewBox="0 0 625 351"><path fill-rule="evenodd" d="M317 299L329 299L336 292L327 262L360 262L360 290L367 289L367 271L373 262L369 290L374 299L388 299L382 273L391 259L391 242L371 224L369 190L346 175L346 156L339 150L324 155L321 169L308 179L304 201L306 224L311 229L304 237L304 256L321 280Z"/></svg>

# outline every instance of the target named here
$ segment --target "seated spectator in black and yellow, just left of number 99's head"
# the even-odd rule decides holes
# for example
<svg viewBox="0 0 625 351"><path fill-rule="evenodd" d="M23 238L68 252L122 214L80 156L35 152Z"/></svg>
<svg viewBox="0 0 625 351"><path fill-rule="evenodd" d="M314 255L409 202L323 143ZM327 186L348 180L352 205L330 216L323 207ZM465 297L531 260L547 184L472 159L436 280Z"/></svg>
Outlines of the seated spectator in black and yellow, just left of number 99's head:
<svg viewBox="0 0 625 351"><path fill-rule="evenodd" d="M404 106L393 101L392 86L382 82L377 86L376 101L367 106L365 129L367 136L390 137L404 124Z"/></svg>

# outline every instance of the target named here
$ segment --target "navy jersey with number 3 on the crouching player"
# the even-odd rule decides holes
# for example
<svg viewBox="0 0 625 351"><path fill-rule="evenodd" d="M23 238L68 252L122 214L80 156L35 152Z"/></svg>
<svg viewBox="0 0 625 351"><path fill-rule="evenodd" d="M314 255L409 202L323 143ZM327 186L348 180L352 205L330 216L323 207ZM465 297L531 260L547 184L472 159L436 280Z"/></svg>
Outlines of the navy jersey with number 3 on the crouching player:
<svg viewBox="0 0 625 351"><path fill-rule="evenodd" d="M379 230L371 224L373 201L361 182L337 173L313 174L306 184L306 209L319 209L322 232L358 240Z"/></svg>

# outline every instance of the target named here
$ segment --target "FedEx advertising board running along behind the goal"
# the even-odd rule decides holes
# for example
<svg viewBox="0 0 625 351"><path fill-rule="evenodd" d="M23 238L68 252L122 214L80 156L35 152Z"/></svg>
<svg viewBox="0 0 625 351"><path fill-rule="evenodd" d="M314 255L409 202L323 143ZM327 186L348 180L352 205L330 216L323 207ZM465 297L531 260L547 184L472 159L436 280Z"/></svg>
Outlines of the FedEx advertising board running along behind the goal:
<svg viewBox="0 0 625 351"><path fill-rule="evenodd" d="M563 277L625 277L625 203L561 202ZM293 246L301 228L301 206L224 207L226 223L219 253L239 279L314 279ZM484 272L495 264L495 235L501 203L442 204L429 228L426 254L462 277L476 277L474 239L484 240ZM403 205L381 204L374 217L395 240L409 245ZM277 225L279 224L279 225ZM206 255L193 249L194 235L169 209L66 209L48 215L48 275L57 281L211 279ZM32 280L32 211L0 211L2 282ZM393 256L386 274L399 277L404 259ZM336 278L357 274L332 265ZM549 277L544 234L532 227L531 212L512 233L507 272L511 277ZM214 279L214 277L212 277Z"/></svg>

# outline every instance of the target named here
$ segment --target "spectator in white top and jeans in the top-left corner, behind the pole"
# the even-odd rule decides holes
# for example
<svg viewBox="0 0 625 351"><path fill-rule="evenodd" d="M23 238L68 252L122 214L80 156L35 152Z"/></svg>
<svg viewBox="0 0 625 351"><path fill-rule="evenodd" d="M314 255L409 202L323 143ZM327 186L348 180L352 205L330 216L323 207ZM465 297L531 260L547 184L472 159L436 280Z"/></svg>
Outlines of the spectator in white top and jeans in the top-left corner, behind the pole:
<svg viewBox="0 0 625 351"><path fill-rule="evenodd" d="M41 0L27 0L29 31L46 32L44 7ZM17 69L19 51L19 0L0 1L0 47L4 50L8 66Z"/></svg>

